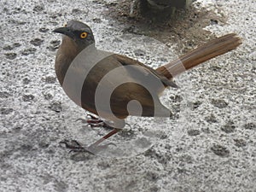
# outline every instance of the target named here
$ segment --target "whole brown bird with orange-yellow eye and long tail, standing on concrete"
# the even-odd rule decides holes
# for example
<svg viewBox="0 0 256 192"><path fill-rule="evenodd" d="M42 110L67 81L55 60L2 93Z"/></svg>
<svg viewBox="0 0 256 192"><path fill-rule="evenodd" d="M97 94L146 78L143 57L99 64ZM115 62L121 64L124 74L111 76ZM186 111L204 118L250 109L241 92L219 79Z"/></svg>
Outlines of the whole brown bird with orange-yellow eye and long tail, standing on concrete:
<svg viewBox="0 0 256 192"><path fill-rule="evenodd" d="M102 125L113 129L88 147L62 142L67 148L90 154L95 154L100 143L121 131L129 115L172 117L159 96L168 87L177 88L173 78L241 44L241 38L230 33L154 69L125 55L97 49L90 26L79 20L69 20L53 32L63 36L55 56L55 74L61 87L79 107L106 119ZM90 117L92 121L88 123L102 122Z"/></svg>

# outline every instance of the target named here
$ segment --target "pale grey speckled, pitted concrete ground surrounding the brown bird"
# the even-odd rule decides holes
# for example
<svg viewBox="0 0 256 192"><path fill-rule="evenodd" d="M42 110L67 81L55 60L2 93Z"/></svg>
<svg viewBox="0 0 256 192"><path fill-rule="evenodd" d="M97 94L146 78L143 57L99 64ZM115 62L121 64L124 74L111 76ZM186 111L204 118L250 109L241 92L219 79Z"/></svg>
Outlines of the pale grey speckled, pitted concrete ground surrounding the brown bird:
<svg viewBox="0 0 256 192"><path fill-rule="evenodd" d="M83 112L77 112L55 80L55 50L61 40L51 32L56 26L83 20L92 26L99 48L148 64L175 55L172 48L172 54L160 58L138 49L136 39L144 37L132 36L131 41L131 34L122 31L126 26L103 14L112 2L1 2L0 191L255 191L253 0L195 2L228 18L206 30L218 36L236 32L243 44L179 77L179 90L166 91L163 102L184 116L161 124L164 131L152 138L153 145L129 157L109 158L68 154L59 145L64 138L90 143L98 135L67 120ZM157 122L150 121L143 119L136 127L155 133ZM131 136L137 134L128 127L115 141Z"/></svg>

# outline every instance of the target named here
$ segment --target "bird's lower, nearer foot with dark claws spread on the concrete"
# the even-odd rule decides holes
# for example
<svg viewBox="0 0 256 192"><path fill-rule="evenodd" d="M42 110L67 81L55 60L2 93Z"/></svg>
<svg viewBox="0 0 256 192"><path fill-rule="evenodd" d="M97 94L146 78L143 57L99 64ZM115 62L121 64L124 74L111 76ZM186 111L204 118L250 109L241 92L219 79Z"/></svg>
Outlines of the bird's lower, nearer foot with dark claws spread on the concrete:
<svg viewBox="0 0 256 192"><path fill-rule="evenodd" d="M99 151L102 151L106 148L108 148L109 145L114 145L116 146L114 143L108 143L105 145L96 145L96 144L91 144L88 147L83 147L79 142L77 142L76 140L63 140L60 142L60 144L65 144L66 148L69 148L71 152L79 152L79 153L89 153L89 154L96 154Z"/></svg>

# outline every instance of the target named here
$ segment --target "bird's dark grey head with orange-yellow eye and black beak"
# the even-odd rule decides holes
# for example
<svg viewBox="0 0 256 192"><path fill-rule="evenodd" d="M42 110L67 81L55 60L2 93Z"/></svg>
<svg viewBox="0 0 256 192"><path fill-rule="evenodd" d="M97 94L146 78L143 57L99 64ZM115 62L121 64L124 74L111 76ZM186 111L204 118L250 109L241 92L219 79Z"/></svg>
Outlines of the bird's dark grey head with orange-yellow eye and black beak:
<svg viewBox="0 0 256 192"><path fill-rule="evenodd" d="M78 20L70 20L67 25L56 28L53 32L58 32L71 38L79 49L85 49L90 44L95 44L90 26Z"/></svg>

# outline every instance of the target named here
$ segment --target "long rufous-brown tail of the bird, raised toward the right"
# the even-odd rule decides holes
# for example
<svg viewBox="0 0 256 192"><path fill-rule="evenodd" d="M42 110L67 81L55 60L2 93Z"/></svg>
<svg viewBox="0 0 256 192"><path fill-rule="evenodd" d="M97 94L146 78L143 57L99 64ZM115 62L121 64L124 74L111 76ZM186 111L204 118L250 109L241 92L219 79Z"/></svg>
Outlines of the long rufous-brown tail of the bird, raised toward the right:
<svg viewBox="0 0 256 192"><path fill-rule="evenodd" d="M236 49L240 44L241 38L235 33L230 33L189 51L189 53L179 57L177 60L157 68L156 71L165 75L167 79L172 79L172 77L189 68L195 67L204 61L222 55L232 49Z"/></svg>

